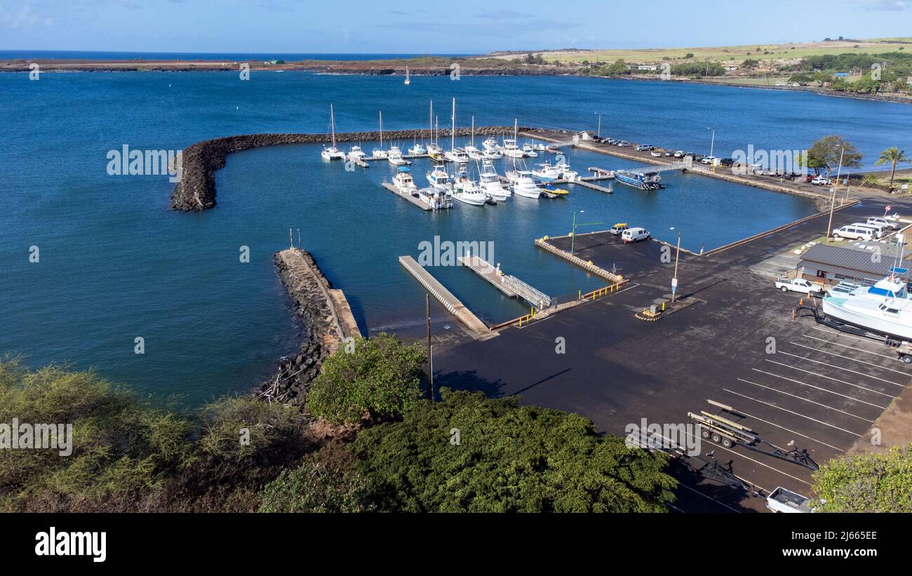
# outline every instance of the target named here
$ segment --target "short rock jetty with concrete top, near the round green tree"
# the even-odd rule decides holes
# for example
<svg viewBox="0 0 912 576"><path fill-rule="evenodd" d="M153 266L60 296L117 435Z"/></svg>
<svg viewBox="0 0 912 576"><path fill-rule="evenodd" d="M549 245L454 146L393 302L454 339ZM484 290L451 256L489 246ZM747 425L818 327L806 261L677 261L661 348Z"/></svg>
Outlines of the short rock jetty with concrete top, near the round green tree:
<svg viewBox="0 0 912 576"><path fill-rule="evenodd" d="M275 268L303 324L304 337L294 356L283 357L275 376L258 386L257 395L302 405L326 356L358 337L358 327L341 291L333 290L314 257L300 248L275 254Z"/></svg>

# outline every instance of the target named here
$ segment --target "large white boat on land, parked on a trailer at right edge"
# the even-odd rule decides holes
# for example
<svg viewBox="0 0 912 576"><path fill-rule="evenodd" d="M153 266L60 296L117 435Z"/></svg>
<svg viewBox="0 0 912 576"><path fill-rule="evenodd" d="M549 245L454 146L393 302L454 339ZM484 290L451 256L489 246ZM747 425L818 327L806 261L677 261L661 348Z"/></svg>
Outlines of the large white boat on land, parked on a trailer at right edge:
<svg viewBox="0 0 912 576"><path fill-rule="evenodd" d="M824 293L824 314L877 334L912 340L912 298L906 282L893 273L873 286L850 285ZM840 285L842 286L842 285Z"/></svg>

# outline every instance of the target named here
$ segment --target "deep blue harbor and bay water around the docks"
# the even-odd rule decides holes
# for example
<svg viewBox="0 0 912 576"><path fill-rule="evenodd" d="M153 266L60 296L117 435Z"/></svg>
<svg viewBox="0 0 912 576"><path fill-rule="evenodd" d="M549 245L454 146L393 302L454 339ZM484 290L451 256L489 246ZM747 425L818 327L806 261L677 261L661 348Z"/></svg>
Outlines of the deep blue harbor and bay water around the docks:
<svg viewBox="0 0 912 576"><path fill-rule="evenodd" d="M458 205L420 211L380 188L388 164L346 172L319 159L319 147L250 150L218 173L218 206L199 214L168 210L165 177L114 177L109 149L182 149L235 133L324 132L330 101L339 130L423 126L427 100L449 121L459 98L460 123L594 128L603 134L702 149L710 119L720 147L789 148L841 133L865 151L902 147L912 108L726 87L587 78L418 78L404 87L389 77L306 73L79 73L0 75L0 353L33 365L67 362L143 392L181 394L197 403L249 389L278 355L295 349L295 324L277 282L272 254L300 229L326 276L345 290L359 324L419 334L424 293L397 261L417 256L422 241L493 242L507 273L553 295L600 285L534 248L544 234L581 220L628 221L658 238L682 232L683 245L707 249L814 211L809 201L697 176L666 177L647 194L621 185L606 196L572 187L567 199L512 199L496 207ZM821 118L826 128L821 129ZM889 122L884 118L890 118ZM905 122L905 124L904 124ZM405 142L403 145L407 146ZM373 143L365 142L371 149ZM567 151L578 170L627 161ZM501 169L505 167L501 165ZM425 161L414 166L424 185ZM731 226L732 221L739 226ZM594 226L592 228L600 228ZM29 247L40 262L28 262ZM251 262L239 262L249 246ZM461 267L431 271L482 318L522 314ZM436 308L435 330L457 329ZM134 354L134 338L145 354Z"/></svg>

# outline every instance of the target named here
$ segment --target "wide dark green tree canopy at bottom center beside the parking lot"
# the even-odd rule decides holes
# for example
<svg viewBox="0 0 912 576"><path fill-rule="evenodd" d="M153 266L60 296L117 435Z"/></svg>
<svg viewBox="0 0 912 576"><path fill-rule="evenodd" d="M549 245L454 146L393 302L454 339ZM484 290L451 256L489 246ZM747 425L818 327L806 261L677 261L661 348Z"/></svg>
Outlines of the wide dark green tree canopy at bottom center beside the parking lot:
<svg viewBox="0 0 912 576"><path fill-rule="evenodd" d="M379 509L658 512L674 499L664 454L599 436L584 417L516 397L440 396L358 433L359 469Z"/></svg>

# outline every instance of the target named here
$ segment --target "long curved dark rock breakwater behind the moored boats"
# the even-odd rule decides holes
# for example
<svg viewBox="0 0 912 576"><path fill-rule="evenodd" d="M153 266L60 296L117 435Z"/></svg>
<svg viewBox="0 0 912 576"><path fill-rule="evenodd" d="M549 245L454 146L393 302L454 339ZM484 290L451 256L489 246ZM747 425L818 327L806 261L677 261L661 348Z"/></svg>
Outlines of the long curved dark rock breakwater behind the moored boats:
<svg viewBox="0 0 912 576"><path fill-rule="evenodd" d="M523 130L527 128L521 128ZM475 136L500 136L513 131L512 126L482 126ZM472 129L458 128L457 136L469 136ZM389 130L383 133L389 140L427 138L426 129ZM378 140L379 132L344 132L336 135L337 142ZM449 138L450 130L441 129L440 138ZM326 134L247 134L203 140L183 150L181 181L171 193L171 210L204 211L215 206L215 171L224 168L225 157L233 152L279 146L282 144L320 144L329 141ZM319 161L315 157L315 161Z"/></svg>

